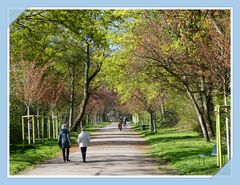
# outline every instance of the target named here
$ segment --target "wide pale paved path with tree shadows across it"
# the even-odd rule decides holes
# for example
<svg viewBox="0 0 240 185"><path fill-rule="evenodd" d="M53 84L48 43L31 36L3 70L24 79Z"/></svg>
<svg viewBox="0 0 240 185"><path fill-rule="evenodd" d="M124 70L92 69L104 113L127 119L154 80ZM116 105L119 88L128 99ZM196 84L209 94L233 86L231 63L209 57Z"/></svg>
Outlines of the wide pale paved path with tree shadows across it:
<svg viewBox="0 0 240 185"><path fill-rule="evenodd" d="M92 136L83 163L78 147L70 149L70 162L53 158L19 175L26 176L158 176L174 172L158 170L156 162L147 156L148 145L130 127L119 131L117 123L100 129Z"/></svg>

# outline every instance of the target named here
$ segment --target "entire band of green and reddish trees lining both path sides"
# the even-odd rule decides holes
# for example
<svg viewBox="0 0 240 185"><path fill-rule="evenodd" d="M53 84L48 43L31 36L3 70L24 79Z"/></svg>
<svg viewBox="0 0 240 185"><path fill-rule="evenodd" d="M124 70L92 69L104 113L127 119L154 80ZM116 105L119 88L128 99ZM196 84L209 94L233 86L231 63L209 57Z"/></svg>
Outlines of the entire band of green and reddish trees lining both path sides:
<svg viewBox="0 0 240 185"><path fill-rule="evenodd" d="M23 115L76 130L118 109L149 114L153 132L175 112L209 141L214 106L230 105L230 13L26 10L10 26L10 136Z"/></svg>

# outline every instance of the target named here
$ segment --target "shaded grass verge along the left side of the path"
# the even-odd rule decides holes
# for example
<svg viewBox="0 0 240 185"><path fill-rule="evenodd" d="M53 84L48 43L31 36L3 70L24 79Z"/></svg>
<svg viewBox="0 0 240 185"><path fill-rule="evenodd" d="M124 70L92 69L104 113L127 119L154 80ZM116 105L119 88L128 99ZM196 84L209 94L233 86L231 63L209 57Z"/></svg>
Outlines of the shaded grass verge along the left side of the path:
<svg viewBox="0 0 240 185"><path fill-rule="evenodd" d="M86 128L92 134L97 129L107 126L108 122L98 123ZM71 141L76 144L79 132L71 132ZM16 175L28 167L60 155L57 140L45 141L36 145L11 145L10 146L10 175Z"/></svg>

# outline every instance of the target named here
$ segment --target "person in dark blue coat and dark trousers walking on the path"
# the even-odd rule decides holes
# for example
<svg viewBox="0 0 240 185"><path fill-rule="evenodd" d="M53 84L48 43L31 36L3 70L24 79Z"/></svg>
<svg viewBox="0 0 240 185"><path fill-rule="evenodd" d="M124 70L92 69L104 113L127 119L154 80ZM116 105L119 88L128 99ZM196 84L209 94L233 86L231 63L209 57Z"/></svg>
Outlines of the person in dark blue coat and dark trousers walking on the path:
<svg viewBox="0 0 240 185"><path fill-rule="evenodd" d="M70 161L69 148L71 147L71 139L66 124L62 125L62 129L58 135L58 145L60 148L62 148L63 161Z"/></svg>

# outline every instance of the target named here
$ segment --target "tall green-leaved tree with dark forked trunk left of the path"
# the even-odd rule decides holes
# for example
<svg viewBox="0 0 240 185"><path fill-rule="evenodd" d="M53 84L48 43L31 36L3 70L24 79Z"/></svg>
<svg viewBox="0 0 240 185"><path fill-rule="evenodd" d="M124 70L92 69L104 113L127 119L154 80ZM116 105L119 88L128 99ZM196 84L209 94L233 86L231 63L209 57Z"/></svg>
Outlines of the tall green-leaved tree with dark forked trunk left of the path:
<svg viewBox="0 0 240 185"><path fill-rule="evenodd" d="M66 63L71 82L71 119L78 73L82 74L77 81L81 83L83 96L72 130L76 130L84 117L91 91L98 87L93 87L92 82L113 50L109 33L116 32L121 21L121 13L113 10L27 10L12 26L12 34L16 35L12 37L16 41L15 46L19 44L17 52L21 52L24 46L30 53L30 48L35 47L34 53L43 52L45 61L48 57L64 61L65 54L70 53L70 62ZM75 71L76 66L83 68ZM66 72L59 62L54 67L56 71Z"/></svg>

